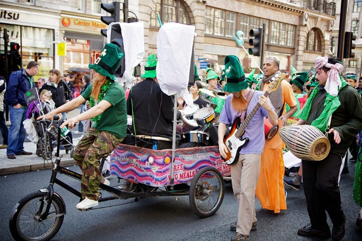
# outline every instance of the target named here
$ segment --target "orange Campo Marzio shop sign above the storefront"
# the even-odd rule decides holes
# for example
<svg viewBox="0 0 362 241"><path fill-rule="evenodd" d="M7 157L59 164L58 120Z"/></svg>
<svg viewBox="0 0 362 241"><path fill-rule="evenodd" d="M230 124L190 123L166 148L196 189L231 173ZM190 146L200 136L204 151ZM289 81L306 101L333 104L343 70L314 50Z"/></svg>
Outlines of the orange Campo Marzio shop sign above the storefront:
<svg viewBox="0 0 362 241"><path fill-rule="evenodd" d="M98 32L101 29L107 28L107 25L100 21L72 17L62 17L61 25L63 25L65 28Z"/></svg>

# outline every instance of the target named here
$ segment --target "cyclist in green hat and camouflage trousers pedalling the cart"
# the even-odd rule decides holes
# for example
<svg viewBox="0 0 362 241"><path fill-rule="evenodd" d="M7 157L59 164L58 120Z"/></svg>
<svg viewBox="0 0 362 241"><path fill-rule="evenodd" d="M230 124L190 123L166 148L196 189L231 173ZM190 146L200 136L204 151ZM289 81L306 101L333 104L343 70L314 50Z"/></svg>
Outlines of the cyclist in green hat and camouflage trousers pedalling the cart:
<svg viewBox="0 0 362 241"><path fill-rule="evenodd" d="M54 115L74 110L89 100L91 108L82 114L65 120L60 128L73 128L81 120L92 119L94 125L79 140L73 158L82 170L82 201L76 207L80 210L98 206L100 183L109 185L103 178L100 160L108 157L126 136L127 115L124 90L116 82L114 73L121 62L123 53L114 44L106 44L101 55L89 64L93 83L77 98L65 103L38 120L53 119Z"/></svg>

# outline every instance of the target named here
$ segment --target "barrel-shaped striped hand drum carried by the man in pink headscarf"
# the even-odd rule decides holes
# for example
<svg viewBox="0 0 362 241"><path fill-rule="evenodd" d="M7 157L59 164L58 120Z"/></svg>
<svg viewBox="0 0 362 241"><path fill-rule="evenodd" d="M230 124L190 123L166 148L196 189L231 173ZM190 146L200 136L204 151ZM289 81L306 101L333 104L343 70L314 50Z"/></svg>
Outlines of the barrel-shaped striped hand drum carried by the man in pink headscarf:
<svg viewBox="0 0 362 241"><path fill-rule="evenodd" d="M312 125L283 126L279 135L288 149L302 160L323 160L331 149L328 138Z"/></svg>

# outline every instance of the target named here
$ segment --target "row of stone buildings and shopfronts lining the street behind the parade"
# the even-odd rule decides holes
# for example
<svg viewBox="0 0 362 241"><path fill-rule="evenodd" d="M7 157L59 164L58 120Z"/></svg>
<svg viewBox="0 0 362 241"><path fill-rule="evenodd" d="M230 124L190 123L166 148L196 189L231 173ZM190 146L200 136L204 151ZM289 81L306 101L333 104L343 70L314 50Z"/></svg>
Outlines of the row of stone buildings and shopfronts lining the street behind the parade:
<svg viewBox="0 0 362 241"><path fill-rule="evenodd" d="M355 1L350 0L349 4ZM112 0L0 0L0 34L2 37L6 28L14 38L19 29L17 38L10 41L20 44L22 66L29 60L38 60L47 69L55 67L61 72L87 70L88 63L97 58L106 42L100 34L101 29L107 28L100 21L101 16L107 15L100 8L101 2ZM254 68L258 73L261 57L249 56L246 52L250 47L250 29L263 24L263 57L278 58L283 71L290 71L291 65L298 71L308 71L316 57L336 54L335 28L339 21L335 15L340 3L334 0L131 0L128 4L129 17L137 17L144 23L145 58L157 53L156 37L160 28L157 15L162 23L195 26L195 63L200 77L207 66L221 73L227 55L238 56L245 73ZM356 29L356 24L350 22L351 29ZM360 26L361 21L358 24ZM238 30L244 33L246 51L233 38ZM29 35L30 32L33 34ZM58 53L58 45L64 42L63 56ZM1 38L1 54L3 50ZM357 66L356 73L361 72L361 67L358 70L360 59L351 62L351 66ZM353 69L347 68L347 71ZM43 74L46 70L40 75Z"/></svg>

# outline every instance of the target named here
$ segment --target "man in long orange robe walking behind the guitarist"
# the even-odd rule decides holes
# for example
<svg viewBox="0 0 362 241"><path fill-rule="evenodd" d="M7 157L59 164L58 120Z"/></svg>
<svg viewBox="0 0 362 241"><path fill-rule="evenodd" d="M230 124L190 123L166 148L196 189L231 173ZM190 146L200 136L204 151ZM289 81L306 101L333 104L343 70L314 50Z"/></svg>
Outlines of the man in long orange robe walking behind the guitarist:
<svg viewBox="0 0 362 241"><path fill-rule="evenodd" d="M279 60L268 57L263 63L264 76L260 80L259 90L266 91L270 81L279 71ZM270 93L269 99L278 115L279 128L287 124L287 120L297 111L296 98L292 86L285 79L280 86ZM285 110L285 104L291 108ZM284 162L283 162L283 141L279 136L279 131L270 140L265 140L263 153L261 154L261 165L259 181L256 186L256 197L263 208L280 213L280 210L287 209L285 200L285 190L283 184Z"/></svg>

